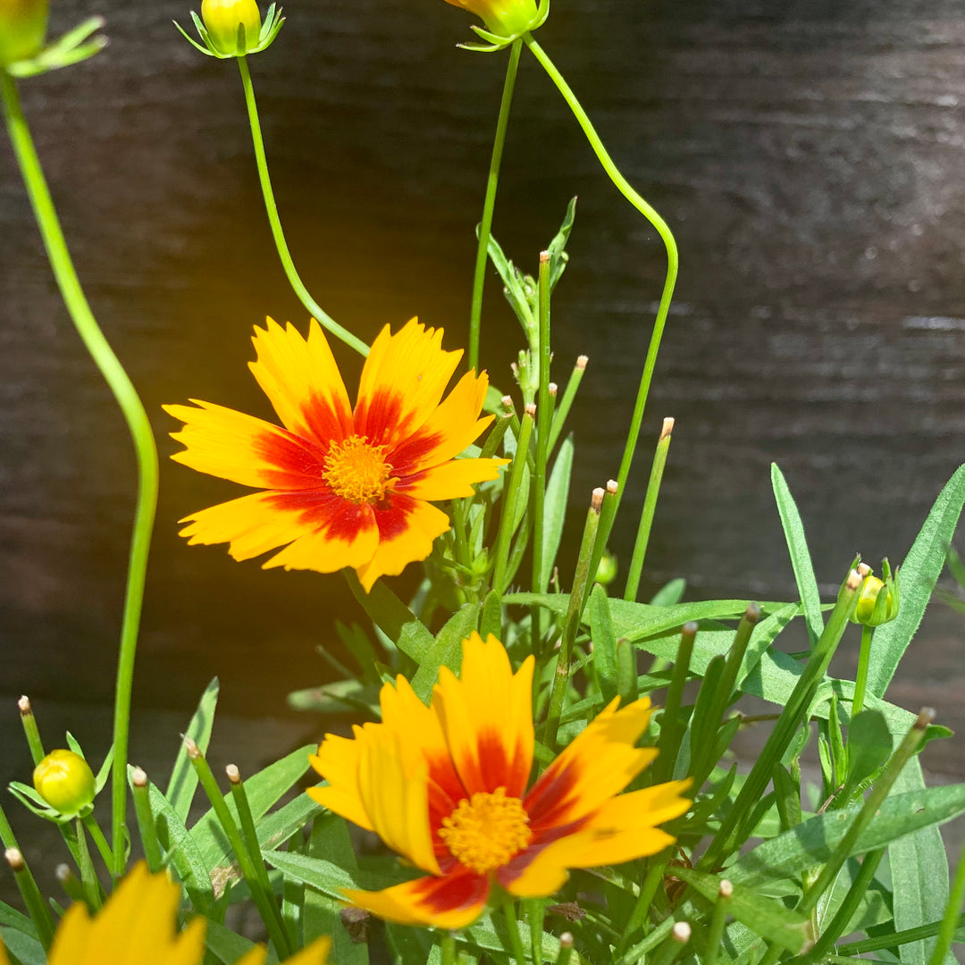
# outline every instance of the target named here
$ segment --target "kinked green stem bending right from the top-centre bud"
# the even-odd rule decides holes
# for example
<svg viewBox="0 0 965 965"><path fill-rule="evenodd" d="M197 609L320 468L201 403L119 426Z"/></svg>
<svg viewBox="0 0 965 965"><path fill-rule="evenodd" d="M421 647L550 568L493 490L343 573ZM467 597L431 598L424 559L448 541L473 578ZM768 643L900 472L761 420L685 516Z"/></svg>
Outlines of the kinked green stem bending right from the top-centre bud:
<svg viewBox="0 0 965 965"><path fill-rule="evenodd" d="M674 234L672 234L670 228L667 226L667 222L633 189L629 181L620 174L620 170L617 168L617 165L614 164L613 158L610 157L599 135L594 130L593 124L591 124L590 118L587 116L587 112L583 109L579 100L576 99L576 95L570 90L563 74L556 69L553 62L546 56L542 47L539 46L537 41L533 40L531 34L524 34L522 40L533 52L539 64L546 73L549 74L550 79L556 84L557 89L563 95L566 104L573 112L573 116L583 128L583 133L586 134L587 140L593 148L593 152L603 166L603 170L606 171L607 175L617 186L620 194L653 225L667 248L667 275L664 280L663 293L660 296L660 306L657 309L657 316L653 322L653 332L650 335L650 345L647 350L647 361L644 363L644 372L640 378L640 388L637 391L637 400L633 406L630 430L627 433L626 446L623 449L623 457L620 461L620 473L617 476L617 482L619 483L617 490L617 508L619 509L620 500L623 498L623 492L626 489L626 478L630 474L630 463L633 461L633 453L637 448L637 437L640 434L640 424L644 418L644 408L647 405L647 396L650 390L650 382L653 378L653 369L656 366L657 352L660 350L660 340L663 337L667 313L670 310L671 298L674 295L678 266L676 241L674 240ZM606 545L609 537L609 532L600 533L602 545Z"/></svg>

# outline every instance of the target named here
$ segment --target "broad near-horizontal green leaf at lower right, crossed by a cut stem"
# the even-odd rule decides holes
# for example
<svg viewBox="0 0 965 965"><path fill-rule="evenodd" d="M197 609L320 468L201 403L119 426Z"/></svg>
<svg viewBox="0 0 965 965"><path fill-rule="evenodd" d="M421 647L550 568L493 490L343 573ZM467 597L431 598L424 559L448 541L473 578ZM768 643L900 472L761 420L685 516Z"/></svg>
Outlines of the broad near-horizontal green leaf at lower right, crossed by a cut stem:
<svg viewBox="0 0 965 965"><path fill-rule="evenodd" d="M916 761L917 758L912 758L906 770ZM727 869L728 878L734 884L757 888L767 881L796 878L802 871L823 864L841 843L861 807L859 802L839 811L815 814L796 828L758 844ZM922 828L937 829L937 825L962 813L965 813L965 784L893 793L886 798L851 853L867 854ZM947 884L947 874L945 880Z"/></svg>

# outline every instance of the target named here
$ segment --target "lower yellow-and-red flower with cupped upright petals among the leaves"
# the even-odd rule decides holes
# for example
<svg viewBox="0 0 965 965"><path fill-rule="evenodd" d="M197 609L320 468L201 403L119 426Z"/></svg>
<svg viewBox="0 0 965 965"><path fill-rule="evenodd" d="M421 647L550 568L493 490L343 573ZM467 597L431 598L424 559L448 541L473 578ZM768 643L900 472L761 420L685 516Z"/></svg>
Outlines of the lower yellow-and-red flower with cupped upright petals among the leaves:
<svg viewBox="0 0 965 965"><path fill-rule="evenodd" d="M354 737L326 734L312 763L328 786L309 794L374 831L427 876L345 897L399 924L460 928L494 887L552 895L567 869L656 854L674 839L656 827L684 813L687 781L620 795L656 757L637 748L648 699L610 703L529 789L534 658L512 673L491 634L463 643L462 670L447 668L429 706L405 677L382 687L382 723ZM619 795L619 796L618 796Z"/></svg>

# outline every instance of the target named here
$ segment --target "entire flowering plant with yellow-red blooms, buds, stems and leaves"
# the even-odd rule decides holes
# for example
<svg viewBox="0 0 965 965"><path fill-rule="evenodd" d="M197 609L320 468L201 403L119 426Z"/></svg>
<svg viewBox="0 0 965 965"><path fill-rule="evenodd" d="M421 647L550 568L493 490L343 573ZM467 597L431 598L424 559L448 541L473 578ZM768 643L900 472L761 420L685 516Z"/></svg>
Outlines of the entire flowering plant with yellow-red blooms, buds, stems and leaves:
<svg viewBox="0 0 965 965"><path fill-rule="evenodd" d="M640 602L668 420L619 593L607 541L637 448L676 245L533 40L548 6L458 5L485 23L474 28L484 42L467 46L508 48L509 63L479 230L468 372L445 398L461 353L443 350L441 330L415 320L395 333L386 326L370 347L328 317L295 272L246 60L278 37L281 12L272 6L262 22L254 0L205 0L194 16L201 42L188 39L238 64L281 261L317 321L307 337L270 320L256 329L252 371L281 426L207 402L167 407L184 424L174 433L184 446L179 461L258 490L193 514L182 534L227 542L238 560L273 551L265 565L342 570L366 616L366 625L338 626L345 660L325 654L339 679L291 697L364 723L247 780L229 766L225 793L206 759L217 681L163 789L127 759L156 451L83 297L17 94L15 78L96 53L102 41L90 38L99 24L44 46L42 0L0 0L0 81L14 152L70 316L124 409L141 473L114 744L98 773L69 734L69 749L47 754L30 702L20 703L37 769L33 786L11 790L63 833L70 864L58 873L74 903L65 912L62 899L41 895L0 808L0 839L29 913L0 905L0 961L320 965L330 953L339 965L816 965L873 951L886 963L946 965L965 862L950 894L938 827L965 813L965 785L924 786L916 755L950 732L932 711L910 713L885 694L945 563L965 503L965 467L896 572L887 561L881 578L860 560L842 566L830 603L821 602L776 466L799 599L683 601L685 584L675 580ZM575 204L532 276L490 232L523 46L668 255L618 478L593 491L571 574L557 560L575 451L565 423L587 360L576 361L560 393L551 381L550 303ZM522 328L512 366L519 404L476 371L487 263ZM354 406L323 328L366 356ZM425 576L405 602L385 578L412 563ZM801 652L782 646L792 621L807 631ZM852 624L861 626L855 681L828 674ZM745 695L773 712L746 717L735 709ZM731 742L751 727L766 738L739 772ZM801 761L815 731L820 777L810 786ZM323 780L292 796L313 766ZM108 781L110 841L96 809ZM192 820L199 786L209 809ZM133 870L128 795L147 866ZM240 903L260 916L266 948L226 924Z"/></svg>

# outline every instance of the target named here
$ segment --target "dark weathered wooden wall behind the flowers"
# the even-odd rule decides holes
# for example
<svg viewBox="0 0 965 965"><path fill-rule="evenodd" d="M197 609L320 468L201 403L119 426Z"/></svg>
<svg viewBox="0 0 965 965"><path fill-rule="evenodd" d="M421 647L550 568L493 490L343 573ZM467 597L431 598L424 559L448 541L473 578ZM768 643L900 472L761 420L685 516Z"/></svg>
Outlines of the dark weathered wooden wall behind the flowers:
<svg viewBox="0 0 965 965"><path fill-rule="evenodd" d="M96 314L169 455L161 402L267 415L245 367L251 326L304 312L264 221L234 64L181 41L170 20L185 23L186 10L169 0L65 0L54 29L92 13L107 18L108 49L22 91ZM503 58L456 50L470 21L441 0L287 13L251 67L306 283L363 337L418 314L461 343ZM900 559L965 455L958 5L560 0L539 41L681 250L620 557L647 440L674 415L645 592L684 575L692 597L789 598L772 460L798 499L822 589L857 549ZM555 305L561 381L576 354L592 360L572 421L577 518L616 474L662 246L531 57L517 91L494 227L510 256L535 268L579 195ZM519 338L491 276L485 308L483 361L508 385ZM0 399L2 689L106 701L133 458L60 305L5 142ZM175 520L236 490L164 462L137 699L191 703L217 672L229 707L279 708L324 675L313 647L331 643L333 617L358 614L338 578L185 547ZM926 620L896 701L924 693L953 726L961 632L958 617ZM949 701L928 696L933 680ZM956 754L949 766L965 768Z"/></svg>

